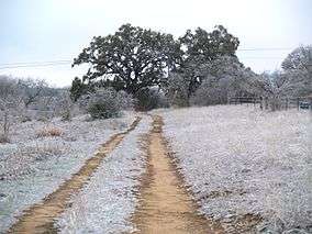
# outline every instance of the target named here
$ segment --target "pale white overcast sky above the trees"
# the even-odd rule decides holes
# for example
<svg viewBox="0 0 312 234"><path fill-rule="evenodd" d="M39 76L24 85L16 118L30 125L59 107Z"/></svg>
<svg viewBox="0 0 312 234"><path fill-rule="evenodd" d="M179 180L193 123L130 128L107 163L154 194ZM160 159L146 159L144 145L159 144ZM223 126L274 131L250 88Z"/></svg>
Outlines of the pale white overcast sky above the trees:
<svg viewBox="0 0 312 234"><path fill-rule="evenodd" d="M222 24L239 38L238 49L286 48L237 52L245 66L261 73L279 68L292 48L312 44L312 0L0 0L0 75L68 86L86 67L3 67L73 60L92 36L114 33L124 23L176 37Z"/></svg>

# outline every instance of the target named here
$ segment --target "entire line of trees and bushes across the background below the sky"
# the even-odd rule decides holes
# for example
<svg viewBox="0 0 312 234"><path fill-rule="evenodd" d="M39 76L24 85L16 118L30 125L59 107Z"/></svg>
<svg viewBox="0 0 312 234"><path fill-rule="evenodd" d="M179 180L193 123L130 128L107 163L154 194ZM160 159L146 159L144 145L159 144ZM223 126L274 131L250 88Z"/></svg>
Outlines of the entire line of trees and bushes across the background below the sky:
<svg viewBox="0 0 312 234"><path fill-rule="evenodd" d="M224 104L229 97L266 97L272 110L280 100L312 94L312 46L300 46L281 69L256 74L237 58L237 37L218 25L198 27L179 38L152 30L122 25L108 36L93 37L74 59L88 71L70 89L52 88L35 79L0 76L0 142L19 121L70 120L75 110L91 118L118 116L135 107Z"/></svg>

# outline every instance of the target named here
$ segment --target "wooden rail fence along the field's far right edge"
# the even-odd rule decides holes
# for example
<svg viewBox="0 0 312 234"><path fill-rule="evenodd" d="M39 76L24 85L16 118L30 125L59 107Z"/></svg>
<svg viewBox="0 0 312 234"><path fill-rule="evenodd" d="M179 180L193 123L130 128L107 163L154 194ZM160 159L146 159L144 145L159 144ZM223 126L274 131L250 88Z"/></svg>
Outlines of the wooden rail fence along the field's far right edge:
<svg viewBox="0 0 312 234"><path fill-rule="evenodd" d="M254 104L261 110L310 109L312 111L312 97L268 98L268 97L232 97L229 104Z"/></svg>

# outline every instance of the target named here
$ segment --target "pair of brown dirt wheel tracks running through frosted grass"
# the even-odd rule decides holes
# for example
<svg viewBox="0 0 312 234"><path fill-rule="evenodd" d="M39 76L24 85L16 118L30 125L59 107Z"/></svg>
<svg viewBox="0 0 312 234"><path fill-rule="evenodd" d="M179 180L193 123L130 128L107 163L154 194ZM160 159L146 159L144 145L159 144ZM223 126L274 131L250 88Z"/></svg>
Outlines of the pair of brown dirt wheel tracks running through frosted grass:
<svg viewBox="0 0 312 234"><path fill-rule="evenodd" d="M57 233L54 220L69 205L69 198L82 188L105 155L135 129L140 120L137 118L126 132L112 136L71 179L42 203L29 209L9 233ZM198 214L197 207L168 155L169 151L161 135L163 124L160 116L154 116L153 129L145 138L148 166L142 183L141 202L132 220L138 229L136 233L224 233L220 225L212 224Z"/></svg>

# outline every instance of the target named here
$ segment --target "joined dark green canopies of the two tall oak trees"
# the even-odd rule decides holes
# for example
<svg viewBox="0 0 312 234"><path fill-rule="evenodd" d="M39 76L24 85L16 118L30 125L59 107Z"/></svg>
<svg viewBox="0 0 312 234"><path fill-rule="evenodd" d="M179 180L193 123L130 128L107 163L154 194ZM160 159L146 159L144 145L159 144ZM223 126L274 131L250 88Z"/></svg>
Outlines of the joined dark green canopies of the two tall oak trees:
<svg viewBox="0 0 312 234"><path fill-rule="evenodd" d="M189 92L201 83L192 67L220 56L235 56L239 41L218 25L211 33L198 27L175 40L172 35L122 25L114 34L96 36L74 59L73 66L89 64L82 80L75 78L71 97L76 100L88 87L104 86L137 96L144 89L160 86L169 73L190 77ZM83 87L83 88L82 88Z"/></svg>

